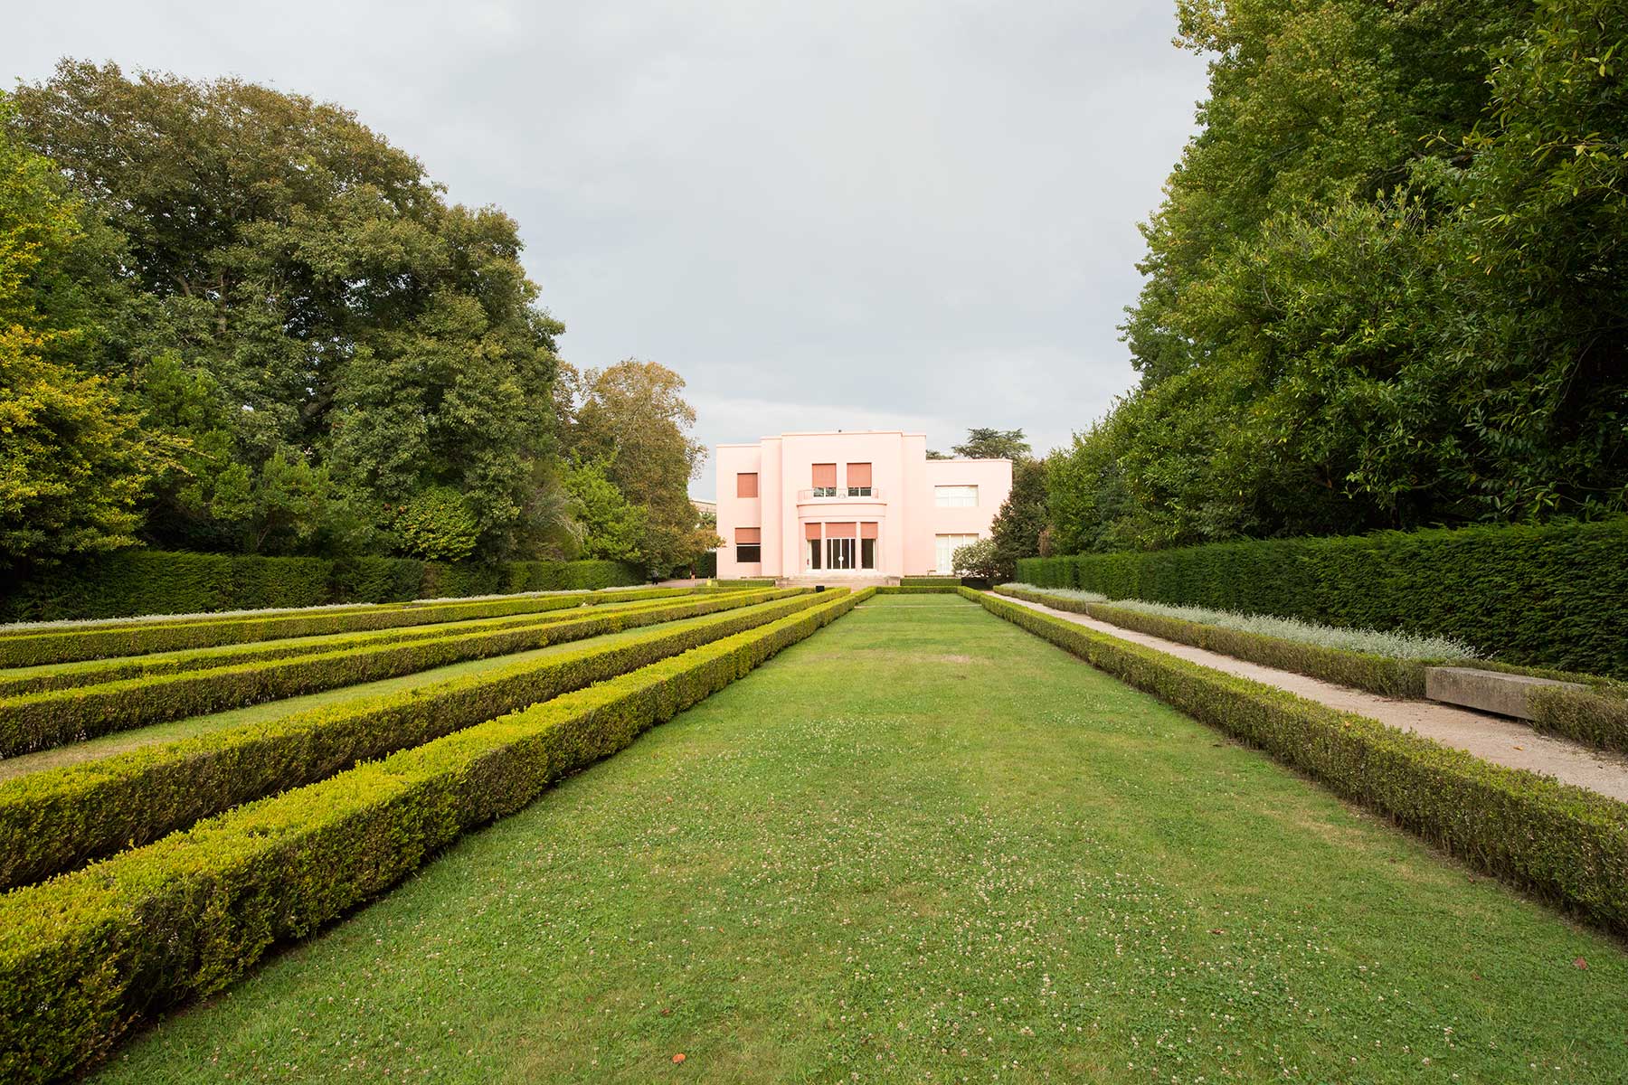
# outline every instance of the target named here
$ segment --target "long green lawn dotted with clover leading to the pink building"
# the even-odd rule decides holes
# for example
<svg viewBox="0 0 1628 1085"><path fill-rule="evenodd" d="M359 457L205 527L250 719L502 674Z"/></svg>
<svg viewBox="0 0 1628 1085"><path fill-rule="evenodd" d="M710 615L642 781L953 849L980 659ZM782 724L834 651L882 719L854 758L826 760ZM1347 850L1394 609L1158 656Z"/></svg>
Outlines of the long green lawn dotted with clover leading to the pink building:
<svg viewBox="0 0 1628 1085"><path fill-rule="evenodd" d="M1625 1022L1607 939L899 595L98 1080L1621 1082Z"/></svg>

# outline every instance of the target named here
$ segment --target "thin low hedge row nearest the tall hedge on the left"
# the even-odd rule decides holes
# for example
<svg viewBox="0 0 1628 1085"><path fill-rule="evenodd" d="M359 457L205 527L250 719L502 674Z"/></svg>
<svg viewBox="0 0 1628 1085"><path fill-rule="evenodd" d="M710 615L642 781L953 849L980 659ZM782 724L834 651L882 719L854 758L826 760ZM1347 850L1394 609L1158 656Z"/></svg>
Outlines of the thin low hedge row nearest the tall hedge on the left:
<svg viewBox="0 0 1628 1085"><path fill-rule="evenodd" d="M220 644L252 644L293 636L326 633L361 633L466 618L495 618L513 613L542 613L601 602L637 602L690 595L690 587L651 587L617 592L568 592L562 595L521 595L516 599L482 599L469 602L422 604L414 607L360 607L275 612L269 615L236 615L231 618L189 618L122 621L81 628L46 628L0 633L0 667L37 667L114 656L147 656L151 652L215 647Z"/></svg>

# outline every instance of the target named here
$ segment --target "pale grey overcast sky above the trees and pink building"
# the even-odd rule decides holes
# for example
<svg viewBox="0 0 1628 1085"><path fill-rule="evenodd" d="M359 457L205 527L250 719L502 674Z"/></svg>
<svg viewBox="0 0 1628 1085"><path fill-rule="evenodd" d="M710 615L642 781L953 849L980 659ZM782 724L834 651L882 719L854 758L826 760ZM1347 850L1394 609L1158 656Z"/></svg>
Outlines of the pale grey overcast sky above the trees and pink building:
<svg viewBox="0 0 1628 1085"><path fill-rule="evenodd" d="M49 0L0 62L357 111L519 221L568 361L677 369L708 446L987 425L1044 451L1133 382L1136 223L1205 89L1174 7Z"/></svg>

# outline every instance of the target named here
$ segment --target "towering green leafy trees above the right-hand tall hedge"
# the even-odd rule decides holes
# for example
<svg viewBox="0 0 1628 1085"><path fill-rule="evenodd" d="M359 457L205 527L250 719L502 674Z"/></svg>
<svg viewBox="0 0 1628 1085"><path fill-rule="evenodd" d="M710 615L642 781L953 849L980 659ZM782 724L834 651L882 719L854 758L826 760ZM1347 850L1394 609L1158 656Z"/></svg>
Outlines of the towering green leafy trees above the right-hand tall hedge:
<svg viewBox="0 0 1628 1085"><path fill-rule="evenodd" d="M1144 228L1141 384L1053 462L1058 543L1628 508L1628 11L1180 10L1205 129Z"/></svg>

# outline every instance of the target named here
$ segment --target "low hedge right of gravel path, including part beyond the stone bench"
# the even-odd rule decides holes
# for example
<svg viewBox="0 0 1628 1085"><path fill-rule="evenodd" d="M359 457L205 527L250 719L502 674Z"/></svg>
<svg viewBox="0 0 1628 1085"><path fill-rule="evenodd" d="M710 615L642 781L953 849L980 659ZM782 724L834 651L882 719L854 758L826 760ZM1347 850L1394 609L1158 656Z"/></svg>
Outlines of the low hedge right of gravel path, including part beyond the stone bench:
<svg viewBox="0 0 1628 1085"><path fill-rule="evenodd" d="M1423 698L1424 669L1431 664L1407 659L1389 659L1369 652L1350 652L1315 644L1301 644L1262 633L1223 630L1200 621L1187 621L1166 615L1149 615L1114 604L1094 604L1066 595L1026 590L1013 584L995 589L1001 595L1026 599L1057 610L1091 615L1099 621L1162 636L1167 641L1192 644L1234 659L1245 659L1263 667L1280 667L1294 673L1322 678L1338 685L1368 690L1381 696ZM1451 660L1451 665L1473 665L1509 673L1556 678L1586 685L1586 690L1540 686L1532 691L1529 706L1537 730L1584 742L1602 750L1628 753L1628 686L1599 675L1579 675L1538 667L1516 667L1475 660Z"/></svg>

